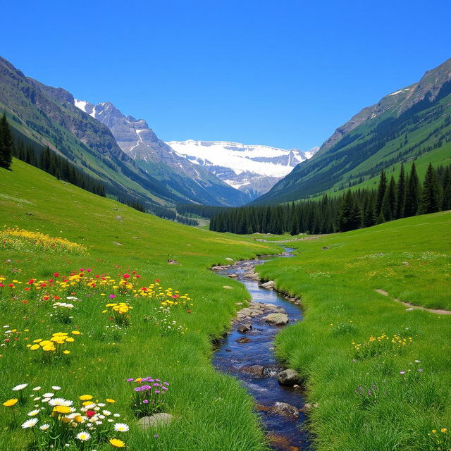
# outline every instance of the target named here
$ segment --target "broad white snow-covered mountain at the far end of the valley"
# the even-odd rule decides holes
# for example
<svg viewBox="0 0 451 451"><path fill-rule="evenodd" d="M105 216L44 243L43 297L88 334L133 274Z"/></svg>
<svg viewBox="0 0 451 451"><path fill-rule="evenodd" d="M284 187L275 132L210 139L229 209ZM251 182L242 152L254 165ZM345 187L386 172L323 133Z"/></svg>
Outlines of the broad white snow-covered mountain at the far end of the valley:
<svg viewBox="0 0 451 451"><path fill-rule="evenodd" d="M166 142L178 154L204 166L228 185L252 198L264 194L298 163L313 156L319 147L307 152L225 141Z"/></svg>

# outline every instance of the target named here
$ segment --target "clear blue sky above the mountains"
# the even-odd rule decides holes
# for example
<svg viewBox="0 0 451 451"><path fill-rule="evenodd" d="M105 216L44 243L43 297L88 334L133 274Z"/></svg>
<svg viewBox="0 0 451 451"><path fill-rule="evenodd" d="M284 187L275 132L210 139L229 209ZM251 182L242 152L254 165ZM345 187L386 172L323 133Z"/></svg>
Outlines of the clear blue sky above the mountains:
<svg viewBox="0 0 451 451"><path fill-rule="evenodd" d="M451 2L8 1L1 56L163 140L309 149L451 57Z"/></svg>

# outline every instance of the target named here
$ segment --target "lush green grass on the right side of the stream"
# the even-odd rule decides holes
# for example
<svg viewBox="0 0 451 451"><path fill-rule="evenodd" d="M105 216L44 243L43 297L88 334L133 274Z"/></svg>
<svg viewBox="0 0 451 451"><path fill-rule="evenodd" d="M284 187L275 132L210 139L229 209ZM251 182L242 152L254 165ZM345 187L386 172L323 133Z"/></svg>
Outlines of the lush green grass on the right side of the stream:
<svg viewBox="0 0 451 451"><path fill-rule="evenodd" d="M450 232L450 212L416 216L293 242L299 257L259 268L302 297L304 321L278 335L277 350L319 403L310 416L317 450L451 446L433 441L450 433L451 316L408 311L374 291L451 309ZM392 349L391 340L377 339L382 334L407 344ZM371 335L376 340L368 344Z"/></svg>

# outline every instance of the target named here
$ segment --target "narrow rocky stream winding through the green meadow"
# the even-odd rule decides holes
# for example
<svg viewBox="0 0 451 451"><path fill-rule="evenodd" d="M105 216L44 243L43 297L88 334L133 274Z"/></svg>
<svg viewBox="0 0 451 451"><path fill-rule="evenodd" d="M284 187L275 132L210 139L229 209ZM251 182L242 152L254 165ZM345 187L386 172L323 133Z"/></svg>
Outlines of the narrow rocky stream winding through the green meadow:
<svg viewBox="0 0 451 451"><path fill-rule="evenodd" d="M302 311L298 305L288 302L278 292L262 288L252 273L255 266L265 261L292 257L290 254L292 250L285 248L285 253L277 257L237 261L230 266L214 268L224 277L229 277L230 274L236 275L236 280L240 280L249 291L250 302L259 303L259 305L251 304L251 308L259 308L264 312L250 319L233 321L228 335L218 343L213 364L219 371L239 379L254 397L271 449L283 451L305 450L309 447L307 431L299 427L305 420L303 409L305 402L300 387L285 387L278 383L278 373L285 367L274 355L273 340L283 326L267 323L264 321L264 316L273 312L278 313L283 309L288 315L288 324L292 324L302 320ZM272 310L266 310L264 304L270 304L267 308ZM243 305L243 307L246 306ZM240 333L237 328L243 324L250 324L252 328ZM290 406L288 408L276 403L287 403Z"/></svg>

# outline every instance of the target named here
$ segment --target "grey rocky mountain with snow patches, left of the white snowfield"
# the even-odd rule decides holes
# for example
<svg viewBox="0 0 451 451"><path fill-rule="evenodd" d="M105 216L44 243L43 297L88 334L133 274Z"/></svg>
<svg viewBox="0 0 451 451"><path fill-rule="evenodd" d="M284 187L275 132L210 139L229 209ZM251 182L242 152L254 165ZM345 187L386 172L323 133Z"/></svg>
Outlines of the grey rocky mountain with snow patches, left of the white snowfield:
<svg viewBox="0 0 451 451"><path fill-rule="evenodd" d="M125 117L111 102L94 105L75 99L74 105L106 125L119 147L135 160L137 166L185 202L227 206L249 202L247 194L230 187L211 171L193 164L159 140L144 119Z"/></svg>

